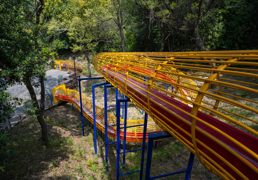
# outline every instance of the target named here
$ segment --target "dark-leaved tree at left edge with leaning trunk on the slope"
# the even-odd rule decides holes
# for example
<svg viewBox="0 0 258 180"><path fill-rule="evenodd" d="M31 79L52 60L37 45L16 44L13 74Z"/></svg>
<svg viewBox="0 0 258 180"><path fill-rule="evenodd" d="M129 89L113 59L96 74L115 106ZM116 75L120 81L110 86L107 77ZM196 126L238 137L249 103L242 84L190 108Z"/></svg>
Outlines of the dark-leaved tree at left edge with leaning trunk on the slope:
<svg viewBox="0 0 258 180"><path fill-rule="evenodd" d="M42 56L35 48L35 36L27 29L23 9L24 1L0 1L0 44L1 75L8 78L8 85L24 83L37 108L36 115L42 129L42 140L48 142L47 127L40 112L34 87L39 87L35 79L46 79L45 64L38 63ZM39 44L41 47L43 44ZM8 96L7 96L8 97ZM10 100L10 99L8 99Z"/></svg>

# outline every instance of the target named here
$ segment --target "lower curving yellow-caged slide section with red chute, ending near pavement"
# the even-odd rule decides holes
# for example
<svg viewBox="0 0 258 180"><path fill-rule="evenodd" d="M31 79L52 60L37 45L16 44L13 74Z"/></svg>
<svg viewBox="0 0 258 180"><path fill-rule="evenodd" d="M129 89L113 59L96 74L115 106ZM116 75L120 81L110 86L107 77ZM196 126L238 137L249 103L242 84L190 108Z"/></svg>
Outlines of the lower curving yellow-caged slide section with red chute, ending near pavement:
<svg viewBox="0 0 258 180"><path fill-rule="evenodd" d="M66 89L65 85L59 85L53 89L53 97L54 97L54 103L62 100L62 101L68 101L73 103L75 107L79 111L81 111L80 107L80 94L78 91ZM82 104L83 104L83 116L86 117L91 123L93 123L93 103L87 99L82 94ZM104 110L98 106L95 106L95 112L96 112L96 127L99 128L103 133L105 133L105 121L104 121ZM124 119L120 120L121 124L123 124ZM143 124L144 120L127 120L127 125L140 125ZM111 115L110 113L107 113L107 125L114 125L116 124L116 117ZM122 126L121 126L122 127ZM123 131L121 129L120 131ZM163 131L159 126L156 125L156 123L153 121L153 119L148 119L148 125L147 125L147 133L152 132L158 132ZM110 126L107 129L107 134L110 137L116 138L116 126ZM142 142L142 134L143 134L143 128L140 126L138 127L131 127L126 129L126 141L130 142ZM124 133L121 133L120 135L121 140L124 139ZM148 136L146 138L146 141L148 141Z"/></svg>

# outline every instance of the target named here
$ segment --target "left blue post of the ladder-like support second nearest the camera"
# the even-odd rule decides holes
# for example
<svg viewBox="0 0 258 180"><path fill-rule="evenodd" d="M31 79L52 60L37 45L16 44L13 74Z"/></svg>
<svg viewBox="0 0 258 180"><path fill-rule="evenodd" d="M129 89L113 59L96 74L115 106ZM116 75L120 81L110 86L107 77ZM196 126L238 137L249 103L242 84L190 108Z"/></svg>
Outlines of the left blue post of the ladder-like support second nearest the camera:
<svg viewBox="0 0 258 180"><path fill-rule="evenodd" d="M120 159L120 101L116 99L116 179L119 180Z"/></svg>

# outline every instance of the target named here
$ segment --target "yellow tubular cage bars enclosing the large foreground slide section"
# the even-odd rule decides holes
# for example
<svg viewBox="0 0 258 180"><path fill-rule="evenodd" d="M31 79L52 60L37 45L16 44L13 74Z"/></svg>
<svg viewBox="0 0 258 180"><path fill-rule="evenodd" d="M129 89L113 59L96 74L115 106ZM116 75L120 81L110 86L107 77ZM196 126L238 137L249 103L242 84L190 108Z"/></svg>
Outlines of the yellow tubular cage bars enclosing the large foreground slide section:
<svg viewBox="0 0 258 180"><path fill-rule="evenodd" d="M202 118L215 119L257 141L258 50L100 53L93 64L107 81L148 113L159 127L192 151L209 171L223 179L252 179L254 174L258 174L257 151L236 139L232 133ZM167 85L171 85L168 90ZM140 97L134 96L135 93ZM167 101L157 94L167 94L171 100ZM191 110L174 105L172 99L188 105ZM174 110L165 109L164 104ZM157 108L165 109L191 129L182 128ZM189 119L183 117L185 115ZM210 129L216 137L201 126ZM233 161L209 147L206 141L199 139L200 134L232 155L248 170L239 169ZM240 149L244 155L234 148ZM248 159L245 155L252 158ZM249 170L251 173L247 173Z"/></svg>

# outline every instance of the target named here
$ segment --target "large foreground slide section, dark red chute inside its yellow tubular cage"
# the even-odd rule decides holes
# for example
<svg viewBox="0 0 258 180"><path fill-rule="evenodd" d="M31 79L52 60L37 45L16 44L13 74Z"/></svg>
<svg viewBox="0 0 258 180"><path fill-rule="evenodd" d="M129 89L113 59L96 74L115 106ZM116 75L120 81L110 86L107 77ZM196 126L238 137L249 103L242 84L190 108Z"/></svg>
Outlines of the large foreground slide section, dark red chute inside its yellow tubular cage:
<svg viewBox="0 0 258 180"><path fill-rule="evenodd" d="M239 53L239 55L230 53L224 51L167 53L165 55L162 53L100 53L93 63L95 69L107 81L129 97L136 106L148 113L159 127L171 133L193 152L209 171L223 179L257 179L257 131L232 119L226 113L216 110L220 108L218 105L220 102L226 102L257 114L257 109L221 96L221 87L243 89L252 93L257 93L257 90L222 82L219 75L220 73L241 74L236 71L228 72L225 69L241 58L250 57L251 59L258 58L258 56L256 56L257 52L253 52L256 54L252 56L243 55L243 51L232 52ZM220 66L215 67L212 64L214 61L206 59L209 57L225 59L227 62L215 61L215 63L221 63ZM182 63L184 60L197 63L207 62L211 65L195 67L195 64ZM176 64L174 61L179 61L179 63ZM201 74L198 77L194 71L188 71L188 75L185 75L179 67L194 71L208 71L211 75ZM210 67L214 68L210 69ZM243 75L256 77L248 73ZM147 82L144 81L143 76L147 76ZM187 87L186 84L189 83L184 78L194 79L202 84L196 85L195 88ZM216 78L217 81L214 82ZM174 87L173 93L166 90L167 84ZM211 84L219 87L219 90L215 91L218 95L207 92L207 90L212 91L208 89ZM184 95L183 90L193 92L195 95ZM205 102L203 99L205 95L213 98L215 105L206 103L204 106L202 103ZM228 121L235 125L230 125ZM250 121L257 123L252 119Z"/></svg>

